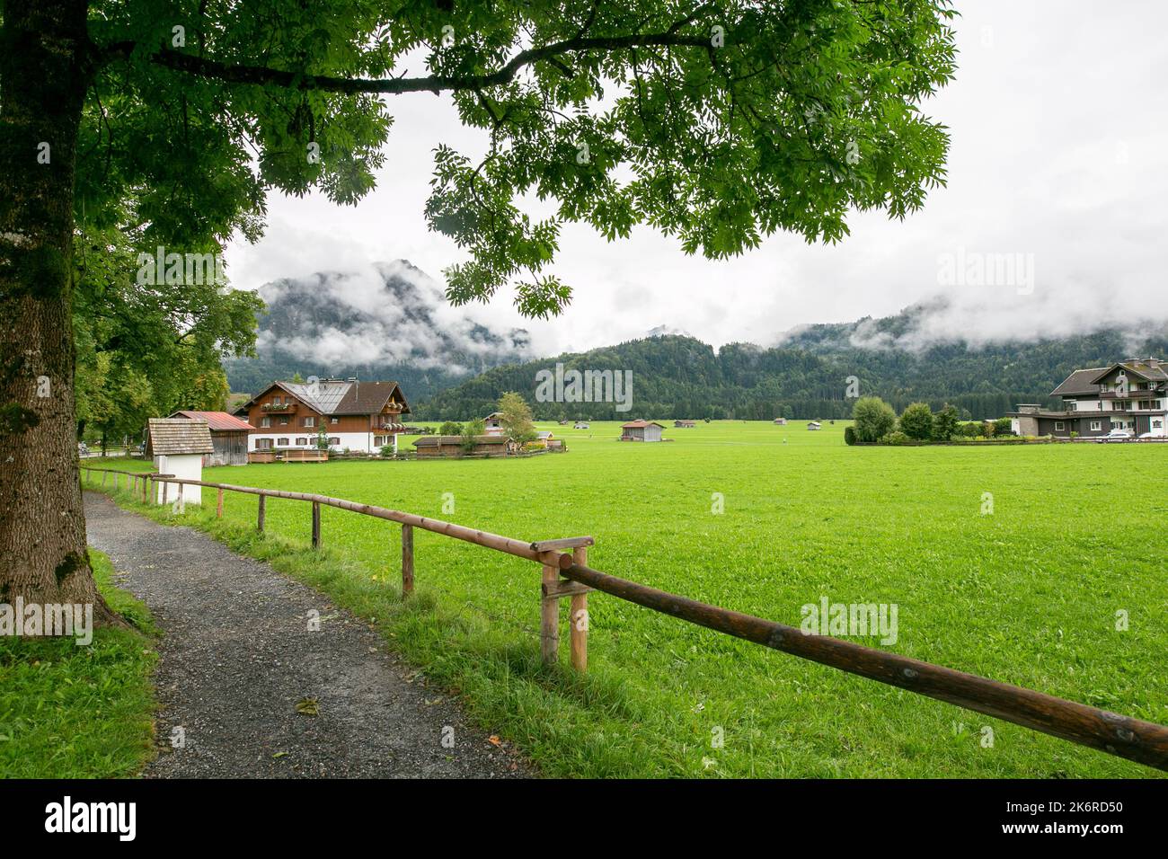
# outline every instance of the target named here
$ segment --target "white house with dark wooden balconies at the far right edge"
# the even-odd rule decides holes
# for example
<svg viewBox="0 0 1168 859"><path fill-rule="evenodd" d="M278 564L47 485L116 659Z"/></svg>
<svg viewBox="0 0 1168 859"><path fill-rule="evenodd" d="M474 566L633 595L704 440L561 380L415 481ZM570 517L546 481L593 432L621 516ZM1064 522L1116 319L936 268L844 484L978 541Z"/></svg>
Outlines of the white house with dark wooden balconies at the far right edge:
<svg viewBox="0 0 1168 859"><path fill-rule="evenodd" d="M1155 358L1077 369L1050 396L1062 397L1063 408L1018 403L1009 413L1015 435L1069 438L1127 430L1133 437L1162 437L1168 428L1168 365Z"/></svg>

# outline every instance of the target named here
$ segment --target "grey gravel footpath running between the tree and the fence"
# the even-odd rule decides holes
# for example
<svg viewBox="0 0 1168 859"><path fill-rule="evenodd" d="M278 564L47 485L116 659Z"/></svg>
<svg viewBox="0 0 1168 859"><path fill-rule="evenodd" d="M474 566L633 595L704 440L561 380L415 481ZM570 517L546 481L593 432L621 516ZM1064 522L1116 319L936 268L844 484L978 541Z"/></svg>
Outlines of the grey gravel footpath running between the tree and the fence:
<svg viewBox="0 0 1168 859"><path fill-rule="evenodd" d="M368 624L206 534L85 493L91 546L162 630L148 778L533 775ZM320 631L308 631L310 611ZM298 712L312 709L317 715ZM185 746L172 748L174 728ZM444 737L445 744L444 744Z"/></svg>

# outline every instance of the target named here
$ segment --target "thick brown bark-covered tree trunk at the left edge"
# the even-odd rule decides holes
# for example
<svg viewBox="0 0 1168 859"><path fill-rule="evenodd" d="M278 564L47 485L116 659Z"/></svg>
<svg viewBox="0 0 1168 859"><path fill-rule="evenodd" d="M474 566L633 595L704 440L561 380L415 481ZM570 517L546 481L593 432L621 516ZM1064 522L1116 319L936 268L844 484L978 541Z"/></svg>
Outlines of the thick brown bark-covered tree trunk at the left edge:
<svg viewBox="0 0 1168 859"><path fill-rule="evenodd" d="M97 594L74 418L72 230L86 0L4 0L0 28L0 602Z"/></svg>

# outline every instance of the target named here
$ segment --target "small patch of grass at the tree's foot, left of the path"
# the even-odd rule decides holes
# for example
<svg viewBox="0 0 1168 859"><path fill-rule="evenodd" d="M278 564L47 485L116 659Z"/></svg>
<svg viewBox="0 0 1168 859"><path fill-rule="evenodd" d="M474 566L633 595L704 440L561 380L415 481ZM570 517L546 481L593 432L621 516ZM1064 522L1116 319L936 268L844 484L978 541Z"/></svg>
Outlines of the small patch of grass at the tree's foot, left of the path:
<svg viewBox="0 0 1168 859"><path fill-rule="evenodd" d="M89 554L102 596L135 629L96 630L89 646L0 637L0 777L131 776L153 754L150 612Z"/></svg>

